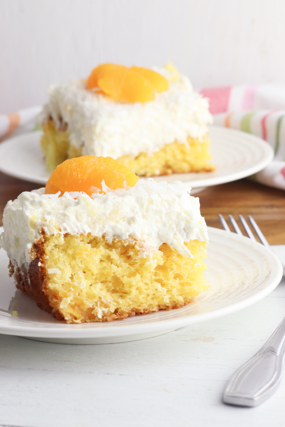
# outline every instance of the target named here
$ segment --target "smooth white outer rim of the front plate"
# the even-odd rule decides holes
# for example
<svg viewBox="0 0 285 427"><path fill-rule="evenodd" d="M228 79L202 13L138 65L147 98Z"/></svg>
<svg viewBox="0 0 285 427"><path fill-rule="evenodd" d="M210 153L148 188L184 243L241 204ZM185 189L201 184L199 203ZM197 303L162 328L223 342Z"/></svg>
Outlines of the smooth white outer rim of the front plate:
<svg viewBox="0 0 285 427"><path fill-rule="evenodd" d="M227 233L224 230L214 227L208 227L210 233L216 233L220 236L223 236L223 233ZM0 228L0 231L2 227ZM263 287L258 292L250 295L247 298L242 299L241 301L234 302L232 304L228 304L226 307L217 308L216 310L211 310L206 313L188 315L183 317L178 317L177 319L161 319L155 322L146 322L139 324L122 324L119 326L112 327L108 326L108 328L104 328L103 325L100 328L92 328L91 324L88 323L88 328L82 328L81 325L85 324L66 324L62 323L62 328L58 326L53 328L49 326L45 328L44 326L35 327L35 326L23 326L23 325L1 325L1 317L0 317L0 333L4 335L18 335L18 336L26 336L26 337L42 337L42 338L66 338L66 339L80 339L80 338L103 338L103 337L112 337L112 336L128 336L128 335L139 335L143 333L148 333L151 331L161 331L167 329L178 329L184 326L188 326L194 323L200 323L204 321L208 321L211 319L216 319L217 317L222 317L230 313L234 313L235 311L242 310L243 308L249 307L250 305L260 301L262 298L267 296L270 292L275 289L279 282L282 279L283 269L280 260L276 257L276 255L267 249L261 243L250 240L248 237L239 236L235 233L230 233L227 237L231 236L234 240L243 241L245 244L254 247L255 245L259 246L259 252L263 252L263 255L270 261L272 264L270 278L267 279L269 283ZM247 239L247 240L244 240ZM182 310L182 309L176 309ZM15 319L16 320L16 319ZM123 322L122 320L118 322ZM36 324L37 322L35 322ZM112 323L112 322L111 322ZM94 322L94 326L96 322ZM110 325L110 322L108 322ZM117 325L117 324L116 324Z"/></svg>

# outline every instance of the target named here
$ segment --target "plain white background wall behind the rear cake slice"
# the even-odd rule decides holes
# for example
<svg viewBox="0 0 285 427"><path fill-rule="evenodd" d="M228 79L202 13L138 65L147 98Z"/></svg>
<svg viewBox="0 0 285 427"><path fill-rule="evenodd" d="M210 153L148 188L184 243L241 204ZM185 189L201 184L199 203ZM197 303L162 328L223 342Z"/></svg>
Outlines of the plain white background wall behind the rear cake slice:
<svg viewBox="0 0 285 427"><path fill-rule="evenodd" d="M285 82L285 0L0 0L0 113L100 62L171 60L195 88Z"/></svg>

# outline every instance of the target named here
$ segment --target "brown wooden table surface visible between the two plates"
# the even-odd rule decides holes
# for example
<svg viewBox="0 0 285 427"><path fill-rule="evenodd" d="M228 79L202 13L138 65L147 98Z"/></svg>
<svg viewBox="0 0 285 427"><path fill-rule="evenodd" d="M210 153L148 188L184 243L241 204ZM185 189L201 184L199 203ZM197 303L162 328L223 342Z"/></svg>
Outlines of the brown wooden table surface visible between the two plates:
<svg viewBox="0 0 285 427"><path fill-rule="evenodd" d="M0 218L10 199L16 199L22 191L31 191L41 185L21 181L0 173ZM250 214L271 245L285 244L285 191L266 187L247 179L209 187L197 194L200 198L201 213L207 225L220 227L218 213Z"/></svg>

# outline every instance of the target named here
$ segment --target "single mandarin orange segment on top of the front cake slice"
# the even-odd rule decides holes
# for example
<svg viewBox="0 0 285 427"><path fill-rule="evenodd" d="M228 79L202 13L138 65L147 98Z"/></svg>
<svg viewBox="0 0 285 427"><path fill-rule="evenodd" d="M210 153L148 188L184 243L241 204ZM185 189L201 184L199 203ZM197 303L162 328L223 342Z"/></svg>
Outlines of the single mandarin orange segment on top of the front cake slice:
<svg viewBox="0 0 285 427"><path fill-rule="evenodd" d="M104 193L102 181L112 190L133 187L138 181L127 167L112 157L82 156L65 160L50 175L45 188L45 194L56 194L65 191L82 191L88 196Z"/></svg>

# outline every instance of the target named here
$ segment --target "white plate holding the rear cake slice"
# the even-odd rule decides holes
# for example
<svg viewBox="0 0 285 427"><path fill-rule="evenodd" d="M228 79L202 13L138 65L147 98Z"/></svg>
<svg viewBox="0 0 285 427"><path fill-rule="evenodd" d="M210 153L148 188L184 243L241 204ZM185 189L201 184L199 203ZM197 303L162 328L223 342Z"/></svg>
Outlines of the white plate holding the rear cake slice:
<svg viewBox="0 0 285 427"><path fill-rule="evenodd" d="M211 152L217 169L209 173L175 173L155 177L155 181L183 181L191 193L201 187L235 181L259 172L273 159L273 149L259 137L220 126L210 127ZM46 171L39 140L41 132L30 132L0 144L0 170L26 181L46 184Z"/></svg>

